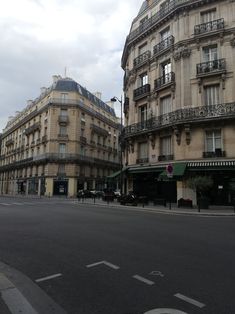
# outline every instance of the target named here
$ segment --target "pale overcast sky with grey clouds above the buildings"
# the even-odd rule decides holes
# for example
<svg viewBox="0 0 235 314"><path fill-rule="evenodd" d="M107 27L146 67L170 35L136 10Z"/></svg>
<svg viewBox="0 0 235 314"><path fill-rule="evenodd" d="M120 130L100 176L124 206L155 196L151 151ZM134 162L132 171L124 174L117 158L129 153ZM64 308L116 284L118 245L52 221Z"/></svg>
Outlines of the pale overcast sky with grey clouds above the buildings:
<svg viewBox="0 0 235 314"><path fill-rule="evenodd" d="M0 9L0 132L52 75L120 97L125 38L143 0L7 0Z"/></svg>

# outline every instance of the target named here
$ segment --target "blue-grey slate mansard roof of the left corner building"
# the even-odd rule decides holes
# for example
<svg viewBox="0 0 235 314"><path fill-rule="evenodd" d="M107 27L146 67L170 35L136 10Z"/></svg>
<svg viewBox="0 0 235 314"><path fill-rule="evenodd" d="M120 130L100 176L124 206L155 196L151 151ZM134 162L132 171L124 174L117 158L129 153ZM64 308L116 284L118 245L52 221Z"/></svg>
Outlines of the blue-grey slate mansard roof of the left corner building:
<svg viewBox="0 0 235 314"><path fill-rule="evenodd" d="M53 86L53 89L57 91L65 91L65 92L78 92L82 96L90 100L93 104L98 106L99 108L105 110L106 112L110 113L112 116L116 117L116 114L113 108L108 106L105 102L103 102L101 99L96 97L94 94L89 92L87 89L85 89L83 86L81 86L80 84L78 84L72 79L68 79L68 78L59 79Z"/></svg>

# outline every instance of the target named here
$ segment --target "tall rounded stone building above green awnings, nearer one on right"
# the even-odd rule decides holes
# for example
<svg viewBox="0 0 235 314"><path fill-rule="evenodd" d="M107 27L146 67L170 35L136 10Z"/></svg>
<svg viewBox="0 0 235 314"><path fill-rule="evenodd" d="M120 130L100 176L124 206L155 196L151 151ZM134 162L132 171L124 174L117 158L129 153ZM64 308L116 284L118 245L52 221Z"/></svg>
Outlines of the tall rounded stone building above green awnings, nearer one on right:
<svg viewBox="0 0 235 314"><path fill-rule="evenodd" d="M211 202L231 203L234 64L234 1L144 1L122 56L127 190L195 204L188 179L208 175Z"/></svg>

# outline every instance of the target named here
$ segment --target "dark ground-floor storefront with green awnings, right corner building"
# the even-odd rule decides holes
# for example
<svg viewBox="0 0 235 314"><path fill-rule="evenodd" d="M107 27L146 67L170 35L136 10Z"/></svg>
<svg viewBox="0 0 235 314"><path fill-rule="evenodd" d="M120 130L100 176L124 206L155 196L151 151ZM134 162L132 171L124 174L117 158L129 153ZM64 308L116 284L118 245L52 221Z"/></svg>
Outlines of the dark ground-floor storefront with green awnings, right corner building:
<svg viewBox="0 0 235 314"><path fill-rule="evenodd" d="M180 199L198 205L199 190L189 185L192 178L210 178L212 185L206 191L211 205L233 205L235 201L235 160L195 161L171 163L173 172L169 175L169 164L133 166L123 171L123 185L126 193L133 191L147 199L165 199L177 203Z"/></svg>

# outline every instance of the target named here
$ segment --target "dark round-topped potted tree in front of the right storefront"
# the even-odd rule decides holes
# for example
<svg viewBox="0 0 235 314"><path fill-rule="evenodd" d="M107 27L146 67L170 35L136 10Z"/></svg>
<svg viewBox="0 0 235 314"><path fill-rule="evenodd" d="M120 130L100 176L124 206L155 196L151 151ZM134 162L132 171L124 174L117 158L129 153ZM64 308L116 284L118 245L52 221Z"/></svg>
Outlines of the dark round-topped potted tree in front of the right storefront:
<svg viewBox="0 0 235 314"><path fill-rule="evenodd" d="M196 191L198 209L209 208L208 191L213 186L213 179L210 176L196 176L188 180L188 187Z"/></svg>

